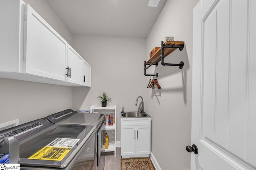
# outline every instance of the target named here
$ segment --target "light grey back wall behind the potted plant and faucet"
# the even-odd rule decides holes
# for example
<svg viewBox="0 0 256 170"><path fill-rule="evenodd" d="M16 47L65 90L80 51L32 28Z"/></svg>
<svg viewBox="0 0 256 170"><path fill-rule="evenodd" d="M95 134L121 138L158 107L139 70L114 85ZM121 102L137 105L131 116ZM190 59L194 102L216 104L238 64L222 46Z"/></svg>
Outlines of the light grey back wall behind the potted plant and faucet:
<svg viewBox="0 0 256 170"><path fill-rule="evenodd" d="M145 97L144 56L146 39L74 36L74 48L92 66L92 87L73 88L74 109L90 109L106 91L117 105L117 137L120 141L120 111L136 111L135 100ZM139 99L140 103L141 99Z"/></svg>

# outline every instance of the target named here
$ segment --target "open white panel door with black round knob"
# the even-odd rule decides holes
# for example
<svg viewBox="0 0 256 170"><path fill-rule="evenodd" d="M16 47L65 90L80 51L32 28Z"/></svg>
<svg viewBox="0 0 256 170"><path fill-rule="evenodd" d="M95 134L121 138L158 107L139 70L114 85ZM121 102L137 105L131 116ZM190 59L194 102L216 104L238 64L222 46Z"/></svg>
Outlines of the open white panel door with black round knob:
<svg viewBox="0 0 256 170"><path fill-rule="evenodd" d="M256 169L256 0L194 8L191 170Z"/></svg>

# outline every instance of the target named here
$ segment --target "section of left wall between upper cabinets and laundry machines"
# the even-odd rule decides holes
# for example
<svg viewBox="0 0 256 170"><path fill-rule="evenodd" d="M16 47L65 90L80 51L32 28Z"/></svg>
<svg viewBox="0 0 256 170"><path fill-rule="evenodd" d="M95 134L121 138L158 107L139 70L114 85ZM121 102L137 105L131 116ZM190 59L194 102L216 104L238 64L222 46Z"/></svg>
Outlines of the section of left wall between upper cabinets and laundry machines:
<svg viewBox="0 0 256 170"><path fill-rule="evenodd" d="M0 123L20 124L72 108L72 87L0 78Z"/></svg>

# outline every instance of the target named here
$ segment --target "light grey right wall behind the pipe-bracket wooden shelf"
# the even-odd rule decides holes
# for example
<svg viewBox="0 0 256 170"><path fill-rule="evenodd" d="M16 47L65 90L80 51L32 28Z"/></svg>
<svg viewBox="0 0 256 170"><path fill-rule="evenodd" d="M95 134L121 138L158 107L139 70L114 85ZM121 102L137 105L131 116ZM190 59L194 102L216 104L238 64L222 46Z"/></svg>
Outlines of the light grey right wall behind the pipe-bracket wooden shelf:
<svg viewBox="0 0 256 170"><path fill-rule="evenodd" d="M177 66L152 66L147 74L158 73L162 90L148 89L146 112L152 117L152 153L162 170L189 170L192 98L192 25L193 8L198 0L168 0L146 39L146 59L165 36L184 41L183 51L176 49L165 63ZM147 81L150 77L147 77Z"/></svg>

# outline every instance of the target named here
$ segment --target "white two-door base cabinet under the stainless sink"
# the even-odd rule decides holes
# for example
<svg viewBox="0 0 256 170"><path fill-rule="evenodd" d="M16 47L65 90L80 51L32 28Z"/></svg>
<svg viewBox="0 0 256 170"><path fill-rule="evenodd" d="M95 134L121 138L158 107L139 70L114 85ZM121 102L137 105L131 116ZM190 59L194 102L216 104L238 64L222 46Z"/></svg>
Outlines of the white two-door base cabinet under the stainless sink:
<svg viewBox="0 0 256 170"><path fill-rule="evenodd" d="M151 152L151 118L121 118L121 156L148 157Z"/></svg>

